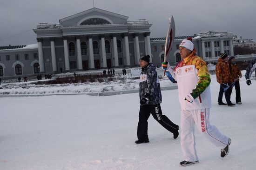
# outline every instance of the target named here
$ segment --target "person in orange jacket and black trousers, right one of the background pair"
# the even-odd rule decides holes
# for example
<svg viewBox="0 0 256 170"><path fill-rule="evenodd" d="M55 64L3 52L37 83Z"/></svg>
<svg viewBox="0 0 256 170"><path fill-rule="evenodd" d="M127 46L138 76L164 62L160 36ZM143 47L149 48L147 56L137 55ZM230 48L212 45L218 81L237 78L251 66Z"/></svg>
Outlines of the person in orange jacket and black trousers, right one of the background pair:
<svg viewBox="0 0 256 170"><path fill-rule="evenodd" d="M236 65L236 59L234 56L229 57L229 69L230 69L231 76L234 78L234 82L235 82L236 104L241 105L242 102L241 102L239 78L242 78L242 73L238 65ZM231 88L230 89L230 95L231 95L233 87L231 86L229 88Z"/></svg>

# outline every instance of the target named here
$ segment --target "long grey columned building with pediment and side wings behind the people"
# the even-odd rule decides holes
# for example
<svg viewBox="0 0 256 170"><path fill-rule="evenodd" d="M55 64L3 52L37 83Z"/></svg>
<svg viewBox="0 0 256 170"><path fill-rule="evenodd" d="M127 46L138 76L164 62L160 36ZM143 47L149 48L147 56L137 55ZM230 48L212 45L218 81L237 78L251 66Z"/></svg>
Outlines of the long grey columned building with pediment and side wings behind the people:
<svg viewBox="0 0 256 170"><path fill-rule="evenodd" d="M150 55L160 66L165 38L150 39L147 20L128 21L117 13L92 8L34 29L37 44L0 47L0 76L72 72L139 66L141 55ZM221 52L234 55L232 33L206 32L175 37L168 62L181 60L179 44L192 38L197 55L216 61Z"/></svg>

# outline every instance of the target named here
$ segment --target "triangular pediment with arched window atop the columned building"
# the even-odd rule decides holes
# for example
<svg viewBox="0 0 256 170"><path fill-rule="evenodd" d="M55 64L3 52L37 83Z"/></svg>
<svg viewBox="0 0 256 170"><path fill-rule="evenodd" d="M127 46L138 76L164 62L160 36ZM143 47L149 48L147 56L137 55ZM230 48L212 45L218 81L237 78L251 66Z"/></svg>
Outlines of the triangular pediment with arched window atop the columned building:
<svg viewBox="0 0 256 170"><path fill-rule="evenodd" d="M127 24L128 17L98 8L91 8L81 13L60 20L62 26Z"/></svg>

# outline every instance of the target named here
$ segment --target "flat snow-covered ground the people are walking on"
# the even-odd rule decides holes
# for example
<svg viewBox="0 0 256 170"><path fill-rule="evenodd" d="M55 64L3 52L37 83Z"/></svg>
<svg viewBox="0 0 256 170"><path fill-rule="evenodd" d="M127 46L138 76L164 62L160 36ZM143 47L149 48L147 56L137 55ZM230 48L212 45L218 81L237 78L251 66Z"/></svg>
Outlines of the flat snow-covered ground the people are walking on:
<svg viewBox="0 0 256 170"><path fill-rule="evenodd" d="M254 170L256 81L248 86L243 77L240 81L243 104L228 107L217 105L219 84L215 75L211 78L211 124L232 139L230 152L221 158L220 150L196 130L200 163L185 169ZM163 114L180 124L177 93L177 90L162 91L161 106ZM231 98L235 102L235 89ZM0 170L184 169L179 165L183 161L180 137L173 139L152 116L148 119L150 142L134 143L138 112L138 93L105 97L86 94L2 97Z"/></svg>

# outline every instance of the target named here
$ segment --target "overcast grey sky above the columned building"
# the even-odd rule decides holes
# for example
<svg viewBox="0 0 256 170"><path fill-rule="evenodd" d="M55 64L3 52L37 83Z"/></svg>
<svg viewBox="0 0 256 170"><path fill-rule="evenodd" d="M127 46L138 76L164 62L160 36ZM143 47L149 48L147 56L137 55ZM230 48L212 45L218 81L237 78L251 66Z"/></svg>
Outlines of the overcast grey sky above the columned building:
<svg viewBox="0 0 256 170"><path fill-rule="evenodd" d="M173 15L176 36L228 31L256 40L256 0L94 0L94 5L129 21L148 20L153 24L151 38L166 36ZM56 24L92 7L93 0L1 0L0 46L34 44L31 29L40 22Z"/></svg>

